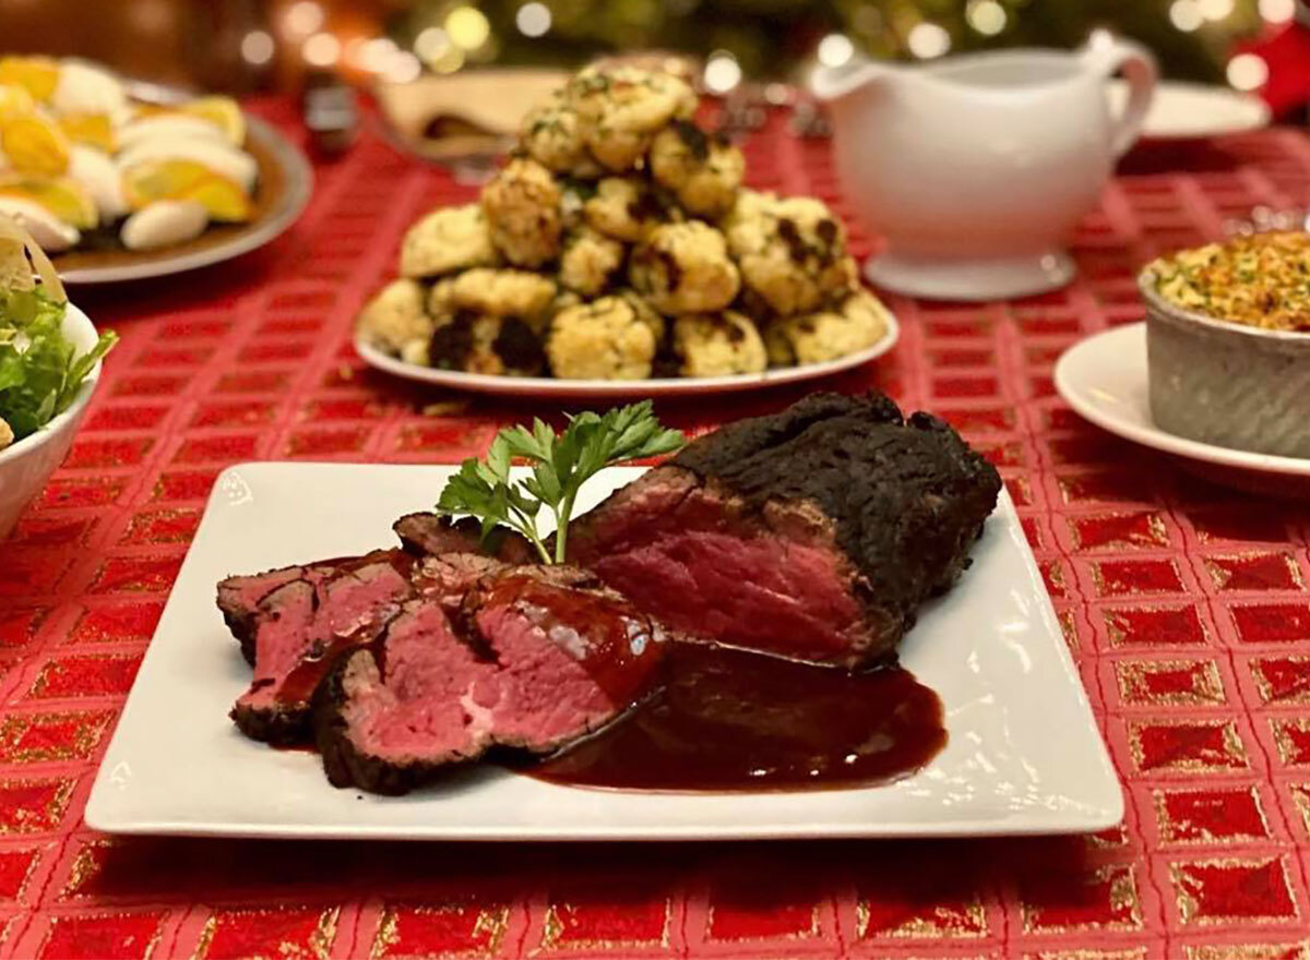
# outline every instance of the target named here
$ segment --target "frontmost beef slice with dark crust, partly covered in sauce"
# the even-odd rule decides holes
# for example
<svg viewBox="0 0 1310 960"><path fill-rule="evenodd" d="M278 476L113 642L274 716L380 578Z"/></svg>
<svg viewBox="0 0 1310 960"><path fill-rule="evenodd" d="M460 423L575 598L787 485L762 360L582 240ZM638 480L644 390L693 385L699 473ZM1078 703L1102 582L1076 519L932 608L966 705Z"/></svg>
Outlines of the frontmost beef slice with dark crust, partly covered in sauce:
<svg viewBox="0 0 1310 960"><path fill-rule="evenodd" d="M402 606L343 655L314 699L328 778L402 794L495 745L546 753L656 682L663 631L593 575L512 567L461 602Z"/></svg>

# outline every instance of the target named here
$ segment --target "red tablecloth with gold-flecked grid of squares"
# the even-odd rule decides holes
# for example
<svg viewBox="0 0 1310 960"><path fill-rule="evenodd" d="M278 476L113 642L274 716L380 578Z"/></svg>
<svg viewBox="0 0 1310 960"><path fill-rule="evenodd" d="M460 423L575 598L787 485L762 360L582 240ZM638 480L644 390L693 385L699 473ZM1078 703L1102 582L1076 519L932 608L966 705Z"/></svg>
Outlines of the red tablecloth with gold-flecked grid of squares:
<svg viewBox="0 0 1310 960"><path fill-rule="evenodd" d="M290 103L262 107L291 127ZM756 186L849 215L827 144L783 118L748 161ZM1305 203L1310 140L1271 131L1131 164L1145 172L1078 232L1073 287L981 306L892 299L897 350L836 381L945 415L1001 468L1123 775L1121 828L646 846L88 830L96 765L221 468L449 462L537 413L414 390L347 346L406 224L476 190L368 134L318 166L309 210L271 248L75 291L123 342L67 462L0 546L0 957L1310 955L1310 517L1096 431L1051 385L1061 350L1140 318L1142 261L1252 207ZM660 414L703 430L796 396Z"/></svg>

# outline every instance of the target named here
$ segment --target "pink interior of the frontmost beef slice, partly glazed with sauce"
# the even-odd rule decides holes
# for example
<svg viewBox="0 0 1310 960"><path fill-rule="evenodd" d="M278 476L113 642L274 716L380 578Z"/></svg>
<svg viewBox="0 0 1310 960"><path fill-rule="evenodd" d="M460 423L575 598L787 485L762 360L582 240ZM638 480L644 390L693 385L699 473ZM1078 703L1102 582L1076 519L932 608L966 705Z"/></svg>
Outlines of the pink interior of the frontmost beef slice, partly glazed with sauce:
<svg viewBox="0 0 1310 960"><path fill-rule="evenodd" d="M479 659L440 605L413 601L346 667L346 736L396 764L448 762L491 744L554 749L622 712L654 678L659 638L621 605L500 576L473 613L487 644Z"/></svg>

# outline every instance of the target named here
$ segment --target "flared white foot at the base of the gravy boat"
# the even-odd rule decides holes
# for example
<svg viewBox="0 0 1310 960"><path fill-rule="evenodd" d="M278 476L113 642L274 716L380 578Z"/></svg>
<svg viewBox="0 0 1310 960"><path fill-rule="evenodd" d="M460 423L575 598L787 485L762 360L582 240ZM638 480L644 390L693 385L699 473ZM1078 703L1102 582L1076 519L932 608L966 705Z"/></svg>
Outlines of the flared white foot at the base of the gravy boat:
<svg viewBox="0 0 1310 960"><path fill-rule="evenodd" d="M1007 300L1066 286L1077 274L1062 250L992 261L918 259L888 251L865 261L865 278L884 289L933 300Z"/></svg>

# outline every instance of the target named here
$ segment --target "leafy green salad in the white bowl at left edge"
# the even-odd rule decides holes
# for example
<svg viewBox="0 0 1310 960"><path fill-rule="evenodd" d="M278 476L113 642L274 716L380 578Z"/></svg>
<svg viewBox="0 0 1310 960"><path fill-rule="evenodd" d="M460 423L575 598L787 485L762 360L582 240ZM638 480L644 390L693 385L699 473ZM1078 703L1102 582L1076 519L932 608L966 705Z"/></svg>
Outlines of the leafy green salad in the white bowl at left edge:
<svg viewBox="0 0 1310 960"><path fill-rule="evenodd" d="M67 308L63 284L41 248L0 216L0 448L67 410L92 367L118 341L102 333L77 356L60 330Z"/></svg>

